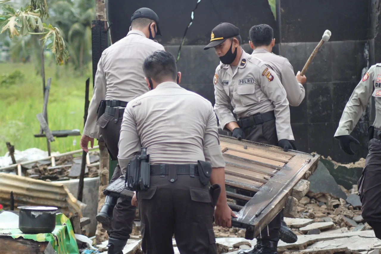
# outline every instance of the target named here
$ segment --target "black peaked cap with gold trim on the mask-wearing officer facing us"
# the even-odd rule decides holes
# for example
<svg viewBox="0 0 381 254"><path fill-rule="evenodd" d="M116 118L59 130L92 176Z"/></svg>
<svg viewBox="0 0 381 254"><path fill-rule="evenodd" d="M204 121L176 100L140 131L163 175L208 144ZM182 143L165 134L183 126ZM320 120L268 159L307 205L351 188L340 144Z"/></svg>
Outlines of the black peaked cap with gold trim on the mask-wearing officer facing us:
<svg viewBox="0 0 381 254"><path fill-rule="evenodd" d="M214 48L226 39L235 37L239 35L239 28L230 23L219 23L218 26L213 28L212 33L210 34L210 43L204 50L208 48Z"/></svg>

